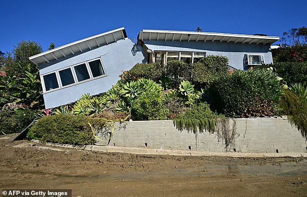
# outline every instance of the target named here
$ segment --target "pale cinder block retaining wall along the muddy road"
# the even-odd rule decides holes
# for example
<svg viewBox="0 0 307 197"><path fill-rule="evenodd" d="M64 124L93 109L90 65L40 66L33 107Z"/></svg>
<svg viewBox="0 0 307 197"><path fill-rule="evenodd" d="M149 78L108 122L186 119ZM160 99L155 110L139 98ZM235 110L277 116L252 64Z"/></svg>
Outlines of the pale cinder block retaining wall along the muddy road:
<svg viewBox="0 0 307 197"><path fill-rule="evenodd" d="M237 118L234 143L225 147L225 141L215 133L178 131L172 120L131 121L114 123L112 129L99 133L104 141L97 145L119 147L148 147L174 150L201 150L212 152L304 152L307 142L284 117Z"/></svg>

